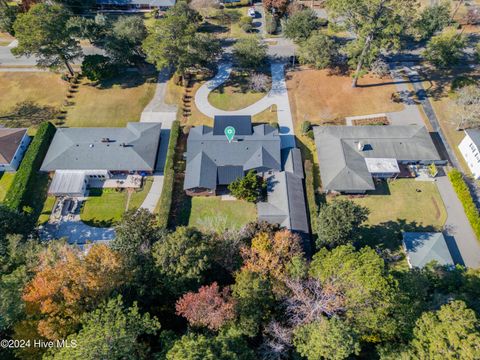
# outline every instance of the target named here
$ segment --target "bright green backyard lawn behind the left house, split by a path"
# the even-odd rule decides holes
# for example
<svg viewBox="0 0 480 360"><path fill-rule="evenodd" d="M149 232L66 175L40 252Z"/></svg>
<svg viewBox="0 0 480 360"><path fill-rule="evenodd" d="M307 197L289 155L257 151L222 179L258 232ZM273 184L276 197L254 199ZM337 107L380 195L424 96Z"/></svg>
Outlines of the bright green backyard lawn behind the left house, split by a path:
<svg viewBox="0 0 480 360"><path fill-rule="evenodd" d="M141 190L134 191L130 197L129 210L137 209L143 203L152 186L152 179L147 179ZM88 225L108 227L115 225L122 218L127 206L128 192L115 189L90 189L89 196L83 204L80 218Z"/></svg>

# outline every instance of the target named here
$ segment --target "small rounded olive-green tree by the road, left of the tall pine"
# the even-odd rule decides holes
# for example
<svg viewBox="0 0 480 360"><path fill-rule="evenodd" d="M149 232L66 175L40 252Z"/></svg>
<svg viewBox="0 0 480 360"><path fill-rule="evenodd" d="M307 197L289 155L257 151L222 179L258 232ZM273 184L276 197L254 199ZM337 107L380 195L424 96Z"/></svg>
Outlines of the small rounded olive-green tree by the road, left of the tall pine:
<svg viewBox="0 0 480 360"><path fill-rule="evenodd" d="M335 64L338 58L338 47L333 39L322 33L313 33L300 43L298 58L301 64L313 65L317 69L325 69Z"/></svg>

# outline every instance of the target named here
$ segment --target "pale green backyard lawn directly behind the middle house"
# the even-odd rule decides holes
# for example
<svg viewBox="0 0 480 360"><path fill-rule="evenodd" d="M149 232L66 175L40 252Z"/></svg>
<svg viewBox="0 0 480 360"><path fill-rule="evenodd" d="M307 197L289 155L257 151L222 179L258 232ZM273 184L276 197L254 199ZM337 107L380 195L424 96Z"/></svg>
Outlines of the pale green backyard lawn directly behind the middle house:
<svg viewBox="0 0 480 360"><path fill-rule="evenodd" d="M201 230L239 229L256 219L255 204L246 201L222 201L220 196L191 198L188 225Z"/></svg>

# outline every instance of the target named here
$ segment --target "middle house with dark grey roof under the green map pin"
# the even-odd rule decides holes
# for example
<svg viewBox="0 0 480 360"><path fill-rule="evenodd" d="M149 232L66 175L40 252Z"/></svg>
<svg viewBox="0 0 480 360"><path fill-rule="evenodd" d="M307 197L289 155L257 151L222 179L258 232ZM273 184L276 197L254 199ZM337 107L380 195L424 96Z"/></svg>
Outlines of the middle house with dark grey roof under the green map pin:
<svg viewBox="0 0 480 360"><path fill-rule="evenodd" d="M235 128L229 141L227 127ZM183 189L188 195L216 195L250 170L281 170L280 136L269 125L252 125L250 116L215 116L213 127L190 129Z"/></svg>

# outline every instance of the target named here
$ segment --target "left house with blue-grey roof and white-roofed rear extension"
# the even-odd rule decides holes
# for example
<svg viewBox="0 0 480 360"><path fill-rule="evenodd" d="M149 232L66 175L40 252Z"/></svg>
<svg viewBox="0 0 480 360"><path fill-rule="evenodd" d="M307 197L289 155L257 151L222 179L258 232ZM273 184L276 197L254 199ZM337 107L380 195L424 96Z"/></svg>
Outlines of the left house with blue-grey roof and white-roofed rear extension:
<svg viewBox="0 0 480 360"><path fill-rule="evenodd" d="M53 173L49 194L83 196L89 185L108 180L112 187L137 187L133 175L155 171L160 131L160 123L57 129L40 168Z"/></svg>

